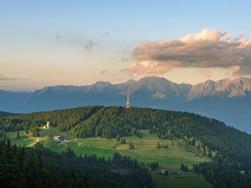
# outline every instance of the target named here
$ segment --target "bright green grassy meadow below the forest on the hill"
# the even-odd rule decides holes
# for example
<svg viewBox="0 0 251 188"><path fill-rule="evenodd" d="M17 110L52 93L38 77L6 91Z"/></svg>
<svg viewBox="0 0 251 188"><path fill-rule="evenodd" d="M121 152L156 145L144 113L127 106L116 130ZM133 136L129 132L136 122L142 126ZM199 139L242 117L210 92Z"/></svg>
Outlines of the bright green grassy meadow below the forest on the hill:
<svg viewBox="0 0 251 188"><path fill-rule="evenodd" d="M20 132L20 138L16 138L17 133L8 133L12 143L18 146L32 147L37 139ZM52 140L52 136L61 135L67 140L68 144L59 144ZM191 171L182 173L179 171L180 164L183 163L192 168L192 164L203 161L210 161L209 158L201 157L196 153L186 151L177 141L158 139L156 135L144 132L143 137L125 137L126 144L121 144L116 139L105 138L86 138L76 139L70 134L60 132L56 128L41 131L38 141L43 143L44 147L56 152L62 152L66 147L71 148L77 155L92 155L110 158L114 152L135 158L142 162L158 162L160 169L168 169L169 176L161 176L160 169L152 171L152 177L155 187L211 187L203 176ZM128 143L132 143L135 149L129 149ZM157 149L157 143L167 146L166 148Z"/></svg>

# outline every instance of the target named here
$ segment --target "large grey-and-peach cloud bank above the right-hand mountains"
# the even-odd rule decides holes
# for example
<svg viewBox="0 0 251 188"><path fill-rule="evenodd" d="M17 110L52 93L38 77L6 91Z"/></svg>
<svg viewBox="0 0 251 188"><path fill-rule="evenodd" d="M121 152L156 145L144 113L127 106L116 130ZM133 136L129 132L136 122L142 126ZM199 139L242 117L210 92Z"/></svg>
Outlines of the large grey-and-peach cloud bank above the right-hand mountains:
<svg viewBox="0 0 251 188"><path fill-rule="evenodd" d="M133 57L138 63L126 69L133 75L161 75L176 67L224 68L251 75L251 38L203 29L177 40L141 43Z"/></svg>

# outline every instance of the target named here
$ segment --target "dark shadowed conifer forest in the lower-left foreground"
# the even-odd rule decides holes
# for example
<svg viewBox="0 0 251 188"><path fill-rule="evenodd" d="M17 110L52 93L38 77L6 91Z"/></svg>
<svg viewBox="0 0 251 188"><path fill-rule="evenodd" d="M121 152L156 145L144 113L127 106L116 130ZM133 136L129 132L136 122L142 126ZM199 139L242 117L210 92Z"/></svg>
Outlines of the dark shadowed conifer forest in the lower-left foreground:
<svg viewBox="0 0 251 188"><path fill-rule="evenodd" d="M96 156L79 158L71 150L57 154L41 145L17 148L1 140L0 187L150 188L152 181L146 167L119 154L109 161Z"/></svg>

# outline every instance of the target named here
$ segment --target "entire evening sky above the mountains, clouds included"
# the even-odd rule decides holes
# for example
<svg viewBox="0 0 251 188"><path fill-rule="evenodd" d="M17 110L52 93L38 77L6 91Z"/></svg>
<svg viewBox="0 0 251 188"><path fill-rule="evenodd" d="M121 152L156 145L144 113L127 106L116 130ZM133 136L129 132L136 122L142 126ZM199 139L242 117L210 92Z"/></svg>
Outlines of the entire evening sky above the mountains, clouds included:
<svg viewBox="0 0 251 188"><path fill-rule="evenodd" d="M0 0L0 89L251 75L249 0Z"/></svg>

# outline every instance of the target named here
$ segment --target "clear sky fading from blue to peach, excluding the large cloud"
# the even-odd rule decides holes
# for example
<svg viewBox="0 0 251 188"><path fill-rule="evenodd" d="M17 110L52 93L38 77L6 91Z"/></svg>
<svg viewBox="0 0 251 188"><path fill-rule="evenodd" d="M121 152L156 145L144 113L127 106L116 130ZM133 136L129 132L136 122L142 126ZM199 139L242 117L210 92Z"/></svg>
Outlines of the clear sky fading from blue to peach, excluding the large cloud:
<svg viewBox="0 0 251 188"><path fill-rule="evenodd" d="M132 52L143 41L203 28L250 37L250 7L248 0L1 0L0 89L121 82L130 78L121 70L135 62ZM207 79L174 75L165 77Z"/></svg>

